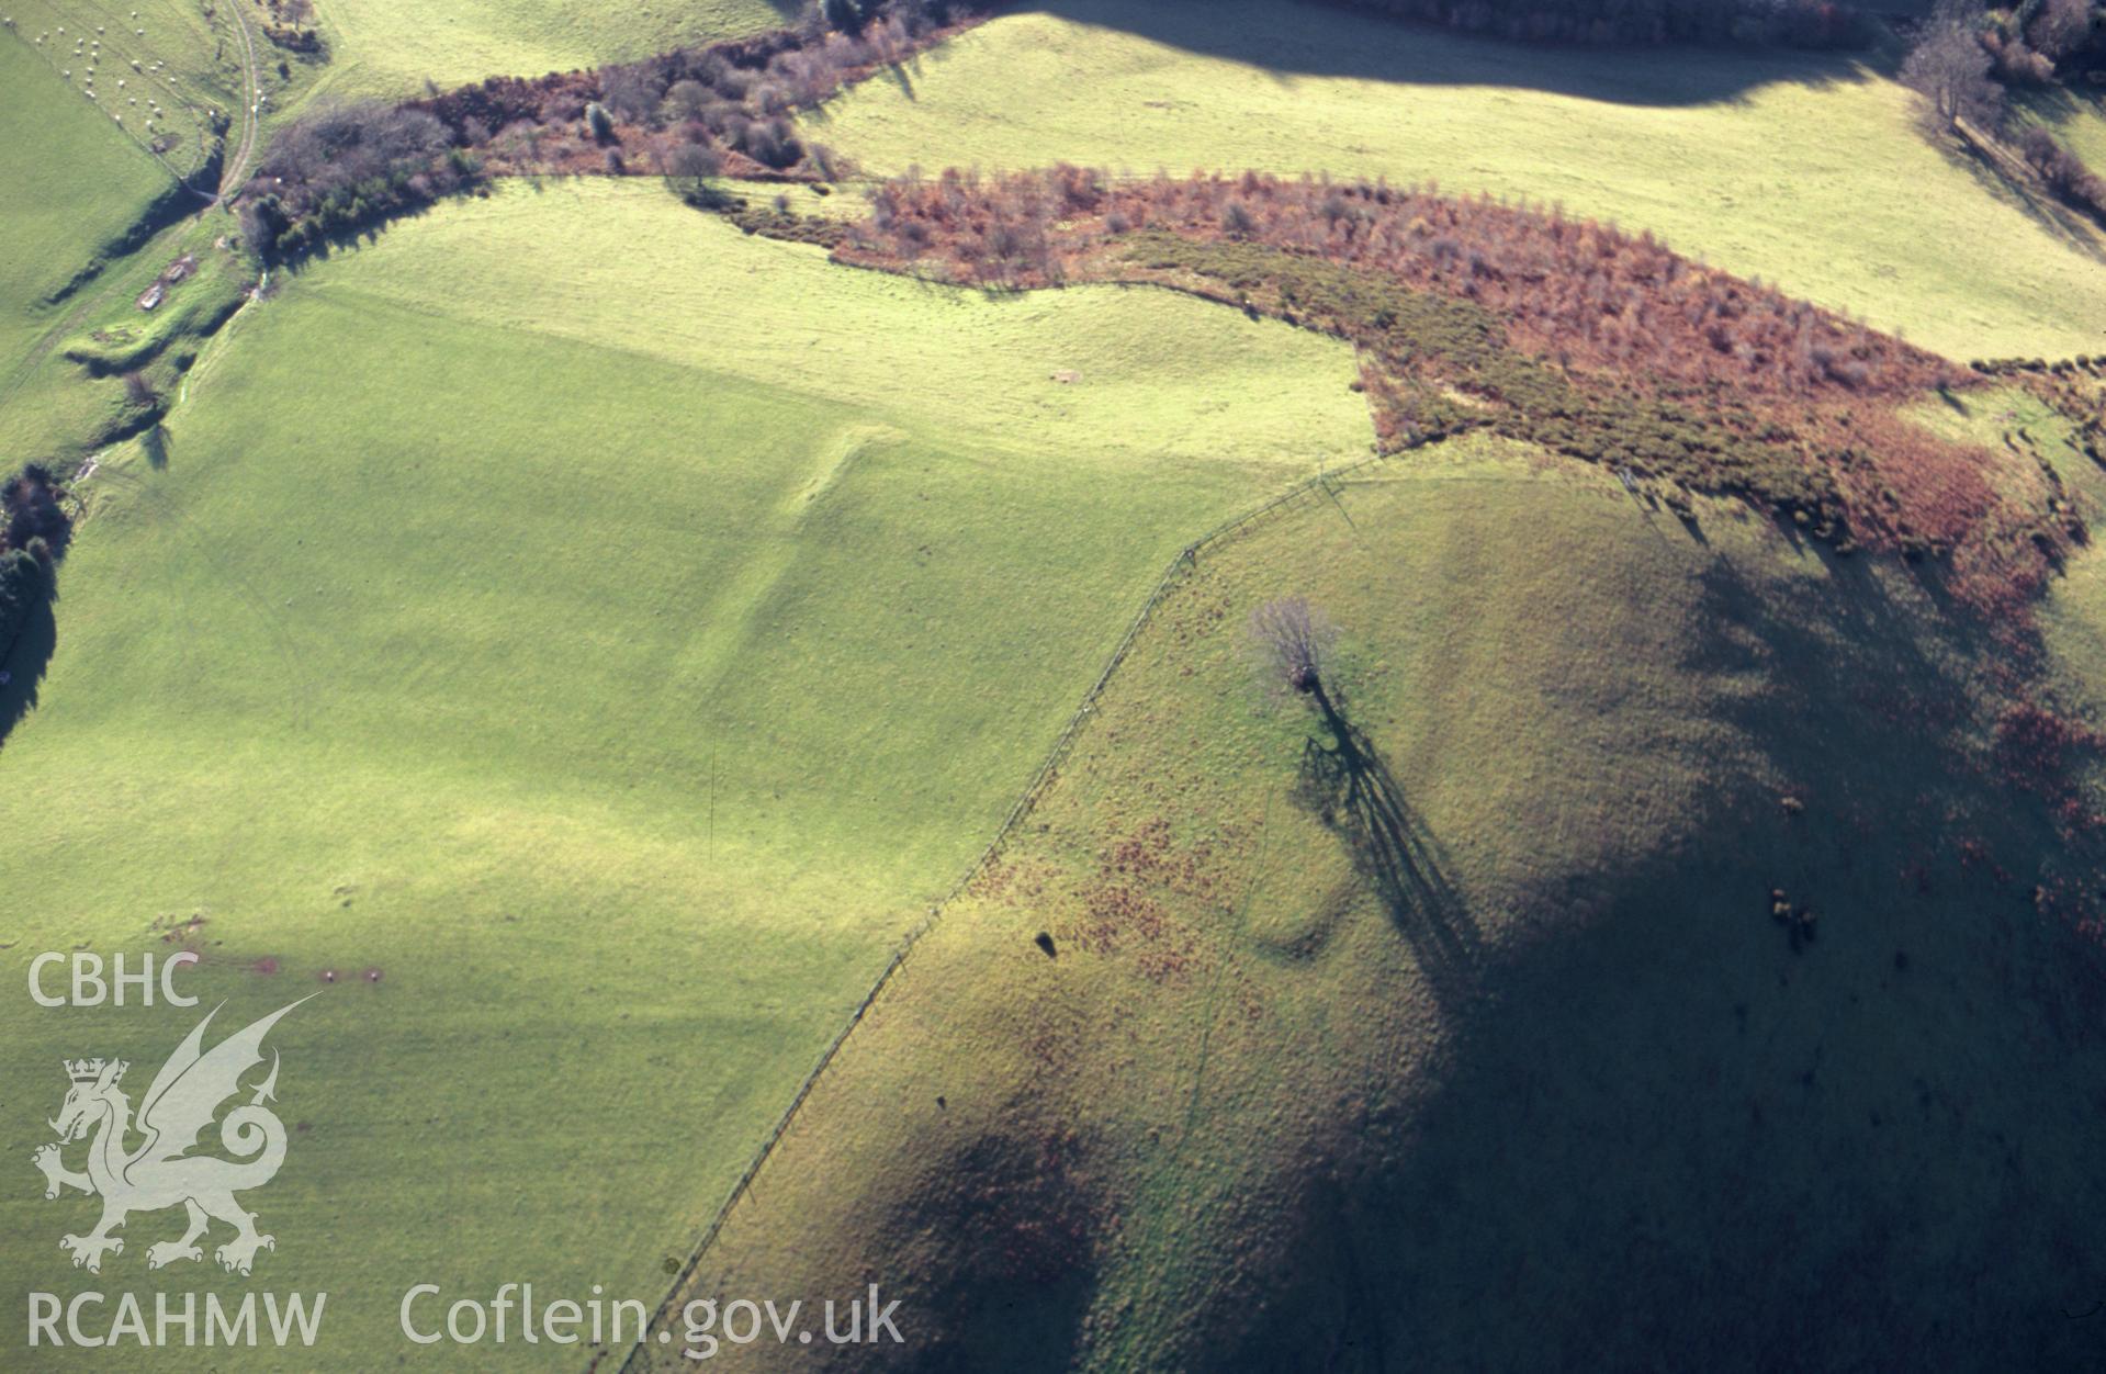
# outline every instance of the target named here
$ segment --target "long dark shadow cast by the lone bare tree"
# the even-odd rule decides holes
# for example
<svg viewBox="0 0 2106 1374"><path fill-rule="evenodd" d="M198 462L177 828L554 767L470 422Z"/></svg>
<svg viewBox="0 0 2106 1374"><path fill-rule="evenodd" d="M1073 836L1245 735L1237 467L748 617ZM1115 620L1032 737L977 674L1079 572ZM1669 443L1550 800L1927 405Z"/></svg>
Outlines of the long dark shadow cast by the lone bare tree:
<svg viewBox="0 0 2106 1374"><path fill-rule="evenodd" d="M1314 700L1331 742L1312 735L1302 746L1295 803L1346 843L1354 868L1375 887L1434 997L1453 1005L1481 982L1485 948L1447 877L1441 843L1405 799L1367 731L1331 695L1318 691Z"/></svg>

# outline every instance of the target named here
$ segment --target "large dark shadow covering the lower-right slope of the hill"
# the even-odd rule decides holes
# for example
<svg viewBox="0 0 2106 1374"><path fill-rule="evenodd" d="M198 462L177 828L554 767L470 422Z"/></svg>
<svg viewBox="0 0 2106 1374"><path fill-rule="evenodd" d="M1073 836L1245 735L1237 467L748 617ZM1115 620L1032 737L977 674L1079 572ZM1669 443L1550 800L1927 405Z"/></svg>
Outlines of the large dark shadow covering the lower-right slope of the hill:
<svg viewBox="0 0 2106 1374"><path fill-rule="evenodd" d="M1213 1328L1243 1332L1215 1357L2098 1368L2106 957L2077 923L2100 856L1961 744L1986 647L1836 569L1790 603L1704 573L1687 668L1763 683L1716 706L1759 757L1721 761L1653 860L1569 875L1590 917L1537 891L1518 929L1548 934L1443 1009L1424 1104L1377 1068L1392 1104L1337 1123L1344 1189L1295 1218L1299 1279ZM1771 889L1817 938L1788 938Z"/></svg>

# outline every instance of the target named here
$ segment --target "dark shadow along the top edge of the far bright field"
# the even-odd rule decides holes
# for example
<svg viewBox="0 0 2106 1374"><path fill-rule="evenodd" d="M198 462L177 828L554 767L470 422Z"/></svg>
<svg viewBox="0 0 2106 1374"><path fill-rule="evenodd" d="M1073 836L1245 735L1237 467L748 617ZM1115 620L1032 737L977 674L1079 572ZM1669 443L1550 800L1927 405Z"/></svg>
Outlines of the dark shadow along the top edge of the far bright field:
<svg viewBox="0 0 2106 1374"><path fill-rule="evenodd" d="M1771 82L1855 82L1870 53L1586 48L1472 38L1367 8L1289 0L1034 0L1017 8L1125 30L1274 78L1523 86L1615 105L1706 105ZM937 61L941 53L937 53Z"/></svg>

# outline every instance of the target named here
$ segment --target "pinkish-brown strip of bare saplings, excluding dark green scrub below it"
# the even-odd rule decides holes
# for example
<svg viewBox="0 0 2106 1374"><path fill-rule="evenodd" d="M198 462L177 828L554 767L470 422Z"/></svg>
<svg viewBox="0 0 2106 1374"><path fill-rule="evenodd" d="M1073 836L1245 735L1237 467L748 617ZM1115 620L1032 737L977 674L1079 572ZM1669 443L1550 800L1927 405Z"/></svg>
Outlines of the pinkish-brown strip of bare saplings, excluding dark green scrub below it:
<svg viewBox="0 0 2106 1374"><path fill-rule="evenodd" d="M1268 244L1462 297L1563 365L1803 394L1898 392L1954 369L1900 339L1691 263L1653 234L1438 185L1314 177L1112 181L1053 166L946 171L872 190L861 242L973 282L1053 284L1066 259L1152 230ZM1049 274L1051 272L1051 274Z"/></svg>

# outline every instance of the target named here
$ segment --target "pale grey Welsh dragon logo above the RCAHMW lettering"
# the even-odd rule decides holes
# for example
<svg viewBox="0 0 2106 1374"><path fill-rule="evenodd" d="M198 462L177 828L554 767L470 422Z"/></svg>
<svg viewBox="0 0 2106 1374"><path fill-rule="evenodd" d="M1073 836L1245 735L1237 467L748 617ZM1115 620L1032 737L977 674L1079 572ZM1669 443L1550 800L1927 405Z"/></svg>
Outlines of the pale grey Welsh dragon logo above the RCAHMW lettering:
<svg viewBox="0 0 2106 1374"><path fill-rule="evenodd" d="M57 1121L48 1123L59 1140L38 1146L29 1159L44 1174L46 1199L57 1197L61 1189L80 1189L103 1199L103 1220L95 1231L59 1241L59 1248L74 1256L76 1269L84 1264L88 1273L101 1273L105 1254L124 1252L122 1237L110 1235L124 1224L124 1218L177 1203L190 1214L190 1226L181 1239L147 1245L147 1269L202 1260L198 1237L213 1220L234 1226L234 1239L213 1252L234 1273L246 1275L257 1250L276 1250L276 1241L257 1231L255 1214L234 1197L261 1189L284 1163L284 1123L263 1106L278 1087L276 1052L270 1077L255 1085L249 1102L230 1111L219 1123L219 1144L238 1161L192 1155L190 1149L198 1144L198 1136L219 1115L221 1104L240 1092L242 1075L263 1062L263 1035L297 1005L295 1001L291 1007L278 1007L211 1049L202 1047L204 1028L213 1024L219 1007L206 1012L154 1075L139 1102L137 1125L131 1100L118 1087L128 1068L124 1060L65 1060L65 1075L74 1087L65 1094ZM88 1167L76 1174L59 1159L59 1149L91 1132L95 1140L88 1144ZM131 1134L145 1136L145 1144L128 1149Z"/></svg>

